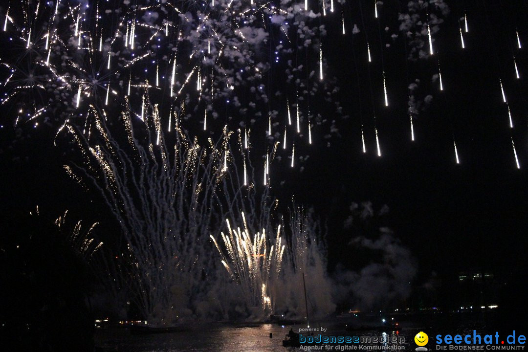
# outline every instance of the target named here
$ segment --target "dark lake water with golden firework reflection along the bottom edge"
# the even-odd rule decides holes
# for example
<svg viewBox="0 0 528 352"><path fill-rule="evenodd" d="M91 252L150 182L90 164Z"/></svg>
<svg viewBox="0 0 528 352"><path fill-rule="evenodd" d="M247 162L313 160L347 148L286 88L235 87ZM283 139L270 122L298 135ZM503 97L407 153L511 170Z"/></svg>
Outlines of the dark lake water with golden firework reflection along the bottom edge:
<svg viewBox="0 0 528 352"><path fill-rule="evenodd" d="M433 319L436 320L436 319ZM449 319L451 320L451 319ZM473 319L471 319L473 320ZM452 320L451 320L452 321ZM439 320L436 320L439 322ZM473 320L474 322L474 320ZM468 330L477 328L474 324L449 324L451 329ZM435 326L436 325L436 326ZM441 324L440 326L443 326ZM458 325L458 326L455 326ZM323 335L335 336L377 336L381 337L379 331L345 331L345 321L333 320L322 322L320 326L327 328ZM437 324L420 320L410 320L403 322L403 330L396 335L395 331L388 331L389 336L403 336L406 346L404 351L414 351L412 339L418 331L439 331ZM294 326L294 330L305 327ZM316 326L312 326L316 327ZM173 332L169 334L153 335L130 335L126 329L99 330L96 335L96 345L104 347L108 351L127 352L288 352L299 351L298 348L285 348L282 346L282 339L288 333L290 326L282 328L278 325L264 324L252 327L228 326L228 325L196 325L187 331ZM444 330L444 328L441 328ZM269 334L272 333L272 338ZM319 334L316 332L315 334ZM429 334L431 339L433 335ZM374 345L374 344L373 344ZM380 345L380 344L376 344ZM412 346L411 346L412 345ZM333 349L335 350L335 349ZM381 352L381 351L380 351ZM392 352L389 350L389 352Z"/></svg>

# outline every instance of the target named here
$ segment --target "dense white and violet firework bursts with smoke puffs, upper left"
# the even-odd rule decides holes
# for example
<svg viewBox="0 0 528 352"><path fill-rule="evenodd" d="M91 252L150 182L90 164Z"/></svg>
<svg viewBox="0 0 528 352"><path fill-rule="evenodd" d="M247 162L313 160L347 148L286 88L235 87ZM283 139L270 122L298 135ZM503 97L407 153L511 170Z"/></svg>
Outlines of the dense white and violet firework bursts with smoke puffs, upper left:
<svg viewBox="0 0 528 352"><path fill-rule="evenodd" d="M181 116L186 129L220 136L225 123L214 120L227 117L226 107L236 129L271 100L282 105L333 90L331 80L312 82L311 68L296 65L298 55L320 51L325 29L318 15L290 0L31 0L5 10L0 35L13 50L0 55L0 103L18 124L82 126L90 106L116 119L126 97L135 97L128 103L139 110L148 94L159 98L163 120L174 107L191 107ZM322 70L322 56L318 61ZM297 91L299 83L307 90ZM208 121L194 126L192 117L204 110ZM275 120L279 111L269 116Z"/></svg>

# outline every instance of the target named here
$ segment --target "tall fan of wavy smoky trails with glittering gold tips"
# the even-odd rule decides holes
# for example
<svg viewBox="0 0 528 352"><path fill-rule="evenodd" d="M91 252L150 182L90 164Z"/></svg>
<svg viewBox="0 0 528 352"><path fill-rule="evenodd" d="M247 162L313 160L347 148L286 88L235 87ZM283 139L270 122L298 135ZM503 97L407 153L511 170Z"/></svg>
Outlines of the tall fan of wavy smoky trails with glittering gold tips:
<svg viewBox="0 0 528 352"><path fill-rule="evenodd" d="M177 126L169 146L157 107L147 102L146 110L145 121L140 122L144 125L137 131L130 112L122 114L123 139L114 137L95 108L91 111L95 131L89 137L65 126L83 156L83 165L65 168L98 188L114 214L126 256L135 267L137 280L131 284L136 286L136 304L156 324L176 320L203 284L200 270L209 256L200 241L214 223L209 209L224 174L225 150L212 142L201 147ZM221 148L225 146L223 140Z"/></svg>

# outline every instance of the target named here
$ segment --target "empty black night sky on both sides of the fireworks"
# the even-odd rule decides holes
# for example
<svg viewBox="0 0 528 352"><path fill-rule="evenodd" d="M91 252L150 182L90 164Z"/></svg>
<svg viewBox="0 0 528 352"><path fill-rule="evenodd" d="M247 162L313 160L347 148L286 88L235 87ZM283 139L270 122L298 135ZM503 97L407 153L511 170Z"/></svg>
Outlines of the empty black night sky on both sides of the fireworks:
<svg viewBox="0 0 528 352"><path fill-rule="evenodd" d="M343 45L342 39L337 39L341 22L328 26L326 74L338 78L342 103L351 117L338 121L340 137L333 137L328 148L324 147L326 140L315 132L317 147L303 147L310 155L304 171L284 175L286 184L275 185L275 191L285 199L289 199L290 192L295 194L297 202L314 205L318 215L326 219L332 265L348 256L348 248L343 245L347 236L343 221L351 203L362 201L372 201L378 210L384 204L390 207L385 222L411 249L424 277L431 271L452 277L462 270L480 268L506 275L525 257L528 55L524 49L514 48L514 34L517 28L528 46L528 10L522 1L448 4L451 14L436 37L435 58L406 64L401 40L385 51L390 99L386 109L382 108L380 65L373 63L368 73L362 33L354 36L354 42L349 39L350 45ZM390 33L397 32L394 13L398 9L390 6L384 4L381 11L382 32L385 25L390 26ZM465 34L466 50L462 51L458 18L464 8L470 31ZM351 8L351 21L360 25L357 11ZM378 28L369 28L369 37L371 47L379 47ZM518 81L514 78L513 53L522 75ZM431 83L437 72L437 57L444 92L438 91L438 82ZM520 170L515 166L499 76L512 107ZM433 95L433 101L415 117L416 141L411 142L407 87L416 78L421 80L423 91ZM378 117L381 158L375 155L369 81ZM332 113L327 112L329 118ZM365 124L367 154L361 152L359 116ZM84 193L63 172L66 152L53 147L49 136L54 130L46 134L46 128L41 127L39 134L23 134L29 137L15 142L14 131L0 131L2 211L27 212L39 205L56 216L69 208L87 221L111 223L104 206L92 206L100 202L97 195ZM453 138L460 165L455 163Z"/></svg>

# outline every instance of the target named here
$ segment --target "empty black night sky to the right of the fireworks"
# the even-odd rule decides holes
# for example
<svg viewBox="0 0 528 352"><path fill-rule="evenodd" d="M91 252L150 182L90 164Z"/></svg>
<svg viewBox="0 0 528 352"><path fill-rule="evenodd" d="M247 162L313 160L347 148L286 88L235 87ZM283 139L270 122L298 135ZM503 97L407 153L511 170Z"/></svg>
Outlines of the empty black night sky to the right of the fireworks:
<svg viewBox="0 0 528 352"><path fill-rule="evenodd" d="M375 156L372 133L368 153L362 155L355 120L348 129L342 129L343 138L333 142L328 155L312 160L303 177L313 185L314 198L320 200L323 209L328 209L326 199L332 199L331 217L346 212L352 200L370 199L378 208L388 204L389 226L412 249L422 273L434 270L454 275L462 270L485 269L505 277L523 262L527 248L526 84L523 79L514 79L512 62L515 53L520 71L526 68L525 53L515 49L515 28L521 36L526 32L526 7L523 2L447 3L451 14L436 37L436 58L406 64L401 44L392 45L385 54L386 76L391 82L390 108L380 108L383 96L379 88L374 93L383 156ZM458 18L464 8L469 33L464 33L463 51ZM355 44L361 47L364 42L360 39ZM352 57L347 49L341 46L333 58L335 70L345 70L343 54ZM438 81L430 83L432 74L437 73L437 60L441 63L443 92L438 91ZM357 73L346 71L350 82L355 83ZM368 76L365 79L365 70L360 71L366 90ZM371 80L373 84L381 87L379 68L371 69L373 76L378 77L377 82ZM512 107L513 135L499 77L507 87ZM409 78L419 78L421 85L431 84L427 91L433 95L429 108L414 119L414 142L410 141L406 113ZM357 113L359 102L354 101L354 95L357 91L351 94L352 109ZM362 99L363 106L368 95ZM516 169L511 136L520 170ZM460 165L455 163L453 138ZM326 158L332 161L326 164Z"/></svg>

